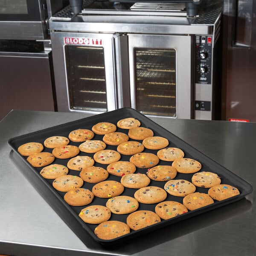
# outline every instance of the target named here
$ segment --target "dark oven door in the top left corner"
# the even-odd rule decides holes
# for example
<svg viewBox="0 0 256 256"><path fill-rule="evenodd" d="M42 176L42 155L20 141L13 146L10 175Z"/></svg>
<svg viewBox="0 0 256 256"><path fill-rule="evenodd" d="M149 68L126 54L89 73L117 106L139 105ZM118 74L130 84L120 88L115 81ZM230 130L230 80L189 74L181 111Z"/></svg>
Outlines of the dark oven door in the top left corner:
<svg viewBox="0 0 256 256"><path fill-rule="evenodd" d="M46 0L0 0L1 39L47 38Z"/></svg>

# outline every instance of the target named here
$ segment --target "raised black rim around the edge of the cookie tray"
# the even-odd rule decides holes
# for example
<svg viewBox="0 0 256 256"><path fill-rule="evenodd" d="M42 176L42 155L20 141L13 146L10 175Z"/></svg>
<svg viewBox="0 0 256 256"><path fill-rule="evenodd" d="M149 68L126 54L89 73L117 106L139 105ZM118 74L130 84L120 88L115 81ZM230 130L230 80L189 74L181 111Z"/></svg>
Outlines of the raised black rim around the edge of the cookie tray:
<svg viewBox="0 0 256 256"><path fill-rule="evenodd" d="M116 112L122 112L122 111L128 111L129 113L131 113L131 115L133 115L133 114L137 115L137 116L134 116L136 118L140 118L140 117L144 118L148 122L150 122L151 124L154 124L154 126L156 126L156 128L169 133L170 135L172 135L172 137L175 137L176 140L178 140L179 142L182 142L182 143L186 144L186 146L189 146L189 148L192 149L193 151L196 151L196 152L200 153L202 156L206 157L207 160L211 161L212 163L214 163L218 167L221 167L222 169L224 169L225 172L228 172L231 175L233 175L234 177L236 177L237 179L239 179L241 182L244 183L244 185L246 185L248 187L247 191L242 193L242 194L240 194L240 195L236 195L236 196L234 196L232 198L227 198L227 199L225 199L223 201L217 201L214 204L210 204L210 205L208 205L206 207L201 207L199 209L196 209L196 210L193 210L193 211L189 211L189 212L187 212L185 214L176 216L175 218L171 218L171 219L168 219L168 220L162 220L161 219L161 221L159 223L157 223L157 224L145 227L145 228L143 228L141 230L133 231L133 233L128 233L128 234L126 234L124 236L120 236L120 237L117 237L115 239L110 239L110 240L99 239L89 228L87 228L87 225L79 218L78 215L76 215L76 213L69 207L69 205L67 205L67 203L64 202L63 198L61 198L61 196L58 195L58 192L56 192L55 189L52 186L50 186L49 183L47 183L47 181L44 178L41 177L41 175L38 174L38 172L35 170L35 168L33 166L31 166L29 164L29 162L27 162L25 160L25 158L17 151L17 149L14 146L12 146L12 142L15 141L15 140L22 139L23 137L30 136L30 135L36 135L36 134L40 134L40 133L45 132L45 131L51 131L52 129L63 128L63 127L66 127L67 125L73 125L76 122L82 122L84 120L86 120L86 121L89 120L90 121L90 119L95 119L95 116L100 118L101 116L106 116L108 114L112 114L112 113L114 114ZM176 222L182 221L182 220L184 220L186 218L190 218L190 217L193 217L195 215L199 215L201 213L210 211L212 209L219 208L219 207L224 206L226 204L231 204L231 203L233 203L235 201L238 201L238 200L244 198L246 195L248 195L251 192L253 192L253 186L249 182L247 182L246 180L242 179L241 177L239 177L238 175L236 175L235 173L233 173L229 169L225 168L224 166L222 166L221 164L219 164L218 162L216 162L212 158L208 157L203 152L199 151L198 149L196 149L195 147L193 147L189 143L186 143L184 140L180 139L175 134L172 134L172 132L168 131L166 128L163 128L161 125L157 124L156 122L154 122L153 120L149 119L147 116L143 115L142 113L134 110L133 108L120 108L120 109L117 109L117 110L113 110L113 111L109 111L109 112L105 112L105 113L100 113L100 114L96 114L96 115L93 115L93 116L87 116L87 117L84 117L84 118L81 118L81 119L77 119L75 121L66 122L66 123L63 123L63 124L60 124L60 125L55 125L55 126L52 126L52 127L48 127L48 128L45 128L45 129L38 130L38 131L33 131L31 133L22 134L22 135L19 135L17 137L10 138L7 141L7 143L8 143L9 148L11 150L13 150L14 153L16 155L18 155L18 157L22 160L22 162L25 163L26 166L28 166L29 169L32 170L33 174L36 177L38 177L38 180L40 180L42 182L43 186L46 186L47 189L49 189L51 191L51 193L53 193L57 197L58 201L61 202L61 205L64 206L65 210L68 211L71 215L73 215L75 217L76 221L81 225L82 229L87 231L87 233L89 233L90 236L92 236L92 238L94 240L98 241L99 243L101 243L103 245L119 243L119 242L121 242L123 240L131 239L131 238L140 236L143 233L148 233L148 232L157 230L157 229L161 228L162 226L166 226L166 222L169 223L169 225L171 225L171 224L174 224ZM49 204L49 202L47 202L47 203ZM54 210L56 211L56 209L54 209ZM67 221L65 221L65 223L73 230L72 224L67 223ZM73 232L76 233L76 230L73 230Z"/></svg>

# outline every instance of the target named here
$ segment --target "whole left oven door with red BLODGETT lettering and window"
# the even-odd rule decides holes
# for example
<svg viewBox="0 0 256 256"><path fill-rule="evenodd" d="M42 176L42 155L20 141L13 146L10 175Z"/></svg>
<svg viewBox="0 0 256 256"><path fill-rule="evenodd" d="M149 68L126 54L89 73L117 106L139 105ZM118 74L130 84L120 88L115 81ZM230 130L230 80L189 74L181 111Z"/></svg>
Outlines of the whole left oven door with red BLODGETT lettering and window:
<svg viewBox="0 0 256 256"><path fill-rule="evenodd" d="M117 108L114 41L119 35L52 32L58 111L103 113Z"/></svg>

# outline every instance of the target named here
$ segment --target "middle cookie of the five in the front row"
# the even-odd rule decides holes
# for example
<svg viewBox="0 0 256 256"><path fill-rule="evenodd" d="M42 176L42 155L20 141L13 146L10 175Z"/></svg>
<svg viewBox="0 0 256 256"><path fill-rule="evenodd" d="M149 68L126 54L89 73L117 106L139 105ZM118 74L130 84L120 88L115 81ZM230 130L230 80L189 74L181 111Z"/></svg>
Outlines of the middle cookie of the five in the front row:
<svg viewBox="0 0 256 256"><path fill-rule="evenodd" d="M175 201L164 201L155 207L156 214L163 220L168 220L170 218L176 217L183 213L188 212L188 209L183 204Z"/></svg>

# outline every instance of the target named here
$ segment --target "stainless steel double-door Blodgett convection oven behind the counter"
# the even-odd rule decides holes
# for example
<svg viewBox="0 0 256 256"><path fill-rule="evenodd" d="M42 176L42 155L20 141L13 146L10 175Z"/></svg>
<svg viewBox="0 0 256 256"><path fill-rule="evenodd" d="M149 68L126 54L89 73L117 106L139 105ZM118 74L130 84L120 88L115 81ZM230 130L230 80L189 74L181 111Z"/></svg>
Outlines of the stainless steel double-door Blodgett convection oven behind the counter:
<svg viewBox="0 0 256 256"><path fill-rule="evenodd" d="M190 17L185 3L67 6L49 21L58 111L218 119L221 8L205 0Z"/></svg>

